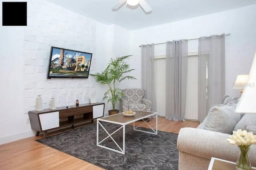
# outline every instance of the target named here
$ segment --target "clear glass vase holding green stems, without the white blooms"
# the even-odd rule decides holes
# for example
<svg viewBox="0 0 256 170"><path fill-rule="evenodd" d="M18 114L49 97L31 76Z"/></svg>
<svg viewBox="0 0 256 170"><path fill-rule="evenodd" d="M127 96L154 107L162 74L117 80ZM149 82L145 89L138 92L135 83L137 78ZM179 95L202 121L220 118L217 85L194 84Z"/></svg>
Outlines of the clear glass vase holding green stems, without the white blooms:
<svg viewBox="0 0 256 170"><path fill-rule="evenodd" d="M240 145L238 147L241 152L240 156L236 161L236 170L251 170L252 166L248 158L248 150L250 148L250 145Z"/></svg>

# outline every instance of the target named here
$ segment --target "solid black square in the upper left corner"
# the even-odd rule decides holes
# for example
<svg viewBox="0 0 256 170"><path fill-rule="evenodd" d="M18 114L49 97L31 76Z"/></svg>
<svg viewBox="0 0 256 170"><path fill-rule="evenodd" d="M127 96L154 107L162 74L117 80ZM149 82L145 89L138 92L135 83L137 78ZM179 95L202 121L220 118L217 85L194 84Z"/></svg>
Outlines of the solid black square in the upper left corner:
<svg viewBox="0 0 256 170"><path fill-rule="evenodd" d="M27 26L27 2L2 2L3 26Z"/></svg>

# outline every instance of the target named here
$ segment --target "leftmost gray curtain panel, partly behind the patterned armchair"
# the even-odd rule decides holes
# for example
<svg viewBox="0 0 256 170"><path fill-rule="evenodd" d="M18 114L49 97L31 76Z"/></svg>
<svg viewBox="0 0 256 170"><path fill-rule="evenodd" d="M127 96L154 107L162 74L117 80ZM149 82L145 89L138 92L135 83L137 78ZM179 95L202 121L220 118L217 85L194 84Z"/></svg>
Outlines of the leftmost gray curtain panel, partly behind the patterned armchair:
<svg viewBox="0 0 256 170"><path fill-rule="evenodd" d="M141 47L141 81L144 98L152 102L152 111L156 111L154 44Z"/></svg>

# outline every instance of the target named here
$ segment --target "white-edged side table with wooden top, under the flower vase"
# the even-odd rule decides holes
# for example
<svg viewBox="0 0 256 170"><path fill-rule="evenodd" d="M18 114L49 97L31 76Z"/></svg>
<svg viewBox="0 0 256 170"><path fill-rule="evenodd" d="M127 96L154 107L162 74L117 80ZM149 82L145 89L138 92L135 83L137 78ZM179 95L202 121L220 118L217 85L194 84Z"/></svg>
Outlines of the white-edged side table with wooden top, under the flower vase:
<svg viewBox="0 0 256 170"><path fill-rule="evenodd" d="M212 158L208 167L208 170L235 170L236 163L228 160L223 160L219 158ZM256 170L252 167L252 170Z"/></svg>

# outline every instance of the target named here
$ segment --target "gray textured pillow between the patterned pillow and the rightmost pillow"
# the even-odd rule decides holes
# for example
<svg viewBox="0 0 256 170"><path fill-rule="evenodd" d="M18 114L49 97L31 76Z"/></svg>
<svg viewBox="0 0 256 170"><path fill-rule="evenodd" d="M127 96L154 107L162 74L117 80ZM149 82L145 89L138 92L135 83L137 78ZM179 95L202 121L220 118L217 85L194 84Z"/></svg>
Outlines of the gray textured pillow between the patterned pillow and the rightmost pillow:
<svg viewBox="0 0 256 170"><path fill-rule="evenodd" d="M240 120L240 114L234 113L236 105L219 105L210 109L204 129L220 133L232 134L236 123Z"/></svg>

